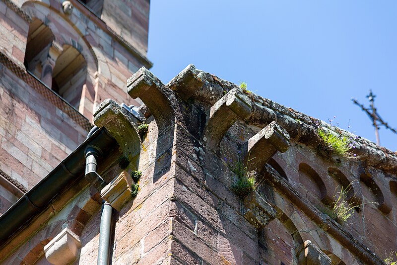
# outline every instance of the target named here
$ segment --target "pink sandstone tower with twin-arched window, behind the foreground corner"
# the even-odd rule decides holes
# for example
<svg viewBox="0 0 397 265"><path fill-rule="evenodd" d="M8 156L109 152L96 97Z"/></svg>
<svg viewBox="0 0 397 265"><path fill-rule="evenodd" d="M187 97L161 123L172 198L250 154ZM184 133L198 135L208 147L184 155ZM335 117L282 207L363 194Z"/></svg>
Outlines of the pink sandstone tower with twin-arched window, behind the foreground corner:
<svg viewBox="0 0 397 265"><path fill-rule="evenodd" d="M126 80L151 67L149 1L71 0L70 13L64 2L0 0L0 214L85 139L100 102L141 104ZM63 68L69 56L78 64Z"/></svg>

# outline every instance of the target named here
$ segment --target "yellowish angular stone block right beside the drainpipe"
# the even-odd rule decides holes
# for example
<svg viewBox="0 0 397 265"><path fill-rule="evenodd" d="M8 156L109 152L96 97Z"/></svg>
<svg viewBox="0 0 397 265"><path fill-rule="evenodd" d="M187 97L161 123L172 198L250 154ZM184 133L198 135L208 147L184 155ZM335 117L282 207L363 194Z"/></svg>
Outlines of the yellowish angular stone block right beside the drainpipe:
<svg viewBox="0 0 397 265"><path fill-rule="evenodd" d="M123 205L132 198L133 184L131 175L123 171L101 190L101 197L120 211Z"/></svg>

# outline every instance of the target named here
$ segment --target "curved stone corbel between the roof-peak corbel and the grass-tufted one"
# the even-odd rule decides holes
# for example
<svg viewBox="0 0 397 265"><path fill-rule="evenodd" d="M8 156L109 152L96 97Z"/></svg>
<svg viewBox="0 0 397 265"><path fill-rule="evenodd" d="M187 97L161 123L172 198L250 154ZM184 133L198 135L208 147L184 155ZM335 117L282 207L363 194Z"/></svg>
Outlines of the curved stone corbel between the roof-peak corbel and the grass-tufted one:
<svg viewBox="0 0 397 265"><path fill-rule="evenodd" d="M252 114L252 101L242 91L234 88L219 99L210 109L204 131L206 146L219 147L223 136L237 119L246 120Z"/></svg>

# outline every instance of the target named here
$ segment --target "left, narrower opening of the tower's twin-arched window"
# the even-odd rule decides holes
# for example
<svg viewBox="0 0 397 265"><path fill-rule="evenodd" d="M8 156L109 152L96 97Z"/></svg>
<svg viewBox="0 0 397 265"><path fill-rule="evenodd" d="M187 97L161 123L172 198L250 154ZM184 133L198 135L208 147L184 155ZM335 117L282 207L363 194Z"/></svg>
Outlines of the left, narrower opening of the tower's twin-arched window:
<svg viewBox="0 0 397 265"><path fill-rule="evenodd" d="M36 77L41 77L43 64L47 60L54 35L40 19L33 18L29 25L24 65Z"/></svg>

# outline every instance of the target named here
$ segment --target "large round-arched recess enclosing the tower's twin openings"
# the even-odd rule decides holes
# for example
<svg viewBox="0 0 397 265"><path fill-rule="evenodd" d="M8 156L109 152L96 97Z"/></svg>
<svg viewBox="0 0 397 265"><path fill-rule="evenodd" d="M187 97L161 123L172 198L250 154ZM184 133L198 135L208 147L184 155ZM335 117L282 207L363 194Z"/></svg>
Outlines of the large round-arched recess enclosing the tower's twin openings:
<svg viewBox="0 0 397 265"><path fill-rule="evenodd" d="M58 91L59 94L71 105L76 107L80 113L91 119L95 107L95 85L99 69L98 59L90 43L85 38L85 33L80 32L79 28L77 28L68 17L64 16L64 14L60 14L60 10L52 8L45 2L29 0L25 1L21 8L29 16L44 21L44 25L53 35L53 40L48 52L44 52L46 53L47 61L45 60L45 55L42 56L43 59L41 60L41 65L44 63L46 68L49 66L52 67L51 74L44 75L45 77L43 77L44 69L37 65L37 71L29 65L27 65L27 69L36 71L32 73L38 79L41 79L49 88ZM34 28L36 27L37 25L34 26ZM39 39L37 41L39 41ZM65 69L66 66L62 65L60 62L67 58L66 55L71 55L72 57L74 55L74 58L81 66L74 64L74 66L69 66L69 68ZM29 57L25 58L25 61L29 61L29 59ZM76 75L75 77L69 76L67 80L69 85L66 85L67 82L63 80L64 75L59 75L59 73L64 71L69 71ZM85 80L83 77L84 75ZM53 82L55 82L54 86L52 84ZM60 83L63 84L60 85ZM63 85L66 85L66 87L62 88ZM79 87L79 89L76 87ZM78 95L80 95L80 98L77 98Z"/></svg>

